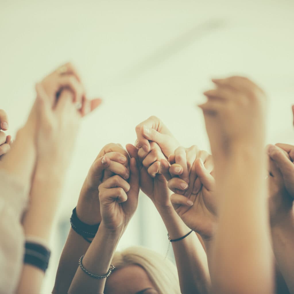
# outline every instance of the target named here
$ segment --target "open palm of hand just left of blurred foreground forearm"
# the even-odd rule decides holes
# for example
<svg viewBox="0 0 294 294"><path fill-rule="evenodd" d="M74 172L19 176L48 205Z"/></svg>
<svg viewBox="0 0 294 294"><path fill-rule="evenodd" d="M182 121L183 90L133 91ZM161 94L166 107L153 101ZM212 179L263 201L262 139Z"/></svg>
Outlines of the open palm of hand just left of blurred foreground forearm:
<svg viewBox="0 0 294 294"><path fill-rule="evenodd" d="M189 228L203 238L210 238L216 218L213 193L201 186L199 191L186 196L194 203L193 206L174 206L176 212Z"/></svg>

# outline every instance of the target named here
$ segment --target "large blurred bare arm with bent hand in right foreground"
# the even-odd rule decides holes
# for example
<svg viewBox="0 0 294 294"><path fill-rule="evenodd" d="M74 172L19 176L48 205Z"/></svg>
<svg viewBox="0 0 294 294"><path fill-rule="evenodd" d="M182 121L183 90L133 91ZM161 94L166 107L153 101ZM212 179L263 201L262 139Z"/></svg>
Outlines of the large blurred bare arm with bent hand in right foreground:
<svg viewBox="0 0 294 294"><path fill-rule="evenodd" d="M208 101L200 106L218 195L211 282L217 293L273 293L263 152L265 95L247 78L213 82L216 89L204 93Z"/></svg>

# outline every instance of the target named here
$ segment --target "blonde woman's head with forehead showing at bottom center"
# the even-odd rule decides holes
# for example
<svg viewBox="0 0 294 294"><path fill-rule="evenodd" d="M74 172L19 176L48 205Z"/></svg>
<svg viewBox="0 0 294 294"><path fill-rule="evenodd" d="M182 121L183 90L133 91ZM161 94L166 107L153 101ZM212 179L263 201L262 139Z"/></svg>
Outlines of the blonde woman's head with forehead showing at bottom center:
<svg viewBox="0 0 294 294"><path fill-rule="evenodd" d="M115 253L112 264L116 270L106 280L105 294L181 293L176 266L152 250L127 248Z"/></svg>

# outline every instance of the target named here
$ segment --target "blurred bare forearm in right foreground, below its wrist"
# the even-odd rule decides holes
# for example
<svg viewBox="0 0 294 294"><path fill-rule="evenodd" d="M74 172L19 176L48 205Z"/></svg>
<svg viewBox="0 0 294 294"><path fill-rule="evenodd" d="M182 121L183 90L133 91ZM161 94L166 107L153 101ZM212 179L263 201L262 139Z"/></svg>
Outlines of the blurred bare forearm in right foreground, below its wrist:
<svg viewBox="0 0 294 294"><path fill-rule="evenodd" d="M273 292L262 154L240 149L225 166L215 160L220 203L211 280L219 293Z"/></svg>

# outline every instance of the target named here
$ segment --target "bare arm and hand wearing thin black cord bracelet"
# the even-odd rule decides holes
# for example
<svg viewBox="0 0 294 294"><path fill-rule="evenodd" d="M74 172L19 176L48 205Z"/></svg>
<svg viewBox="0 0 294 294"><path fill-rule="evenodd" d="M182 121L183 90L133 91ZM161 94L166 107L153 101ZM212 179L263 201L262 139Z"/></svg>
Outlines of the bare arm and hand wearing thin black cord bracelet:
<svg viewBox="0 0 294 294"><path fill-rule="evenodd" d="M170 238L178 239L186 235L191 229L185 225L174 210L170 201L171 192L168 189L167 181L163 174L159 174L160 165L158 163L165 158L161 148L155 142L150 143L150 148L149 152L144 151L143 148L137 151L131 144L127 145L128 152L132 156L138 156L139 162L142 162L140 165L141 190L154 203L166 225ZM193 232L180 241L172 242L172 246L181 292L185 294L208 293L210 279L206 254L196 234Z"/></svg>

